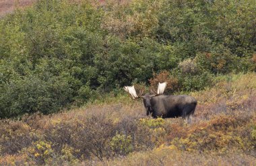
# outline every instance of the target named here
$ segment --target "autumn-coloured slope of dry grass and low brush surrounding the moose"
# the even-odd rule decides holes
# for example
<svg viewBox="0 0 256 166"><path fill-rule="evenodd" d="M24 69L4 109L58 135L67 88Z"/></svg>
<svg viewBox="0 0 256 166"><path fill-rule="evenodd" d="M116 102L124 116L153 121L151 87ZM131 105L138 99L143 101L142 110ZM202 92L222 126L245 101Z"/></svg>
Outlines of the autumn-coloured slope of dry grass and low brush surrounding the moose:
<svg viewBox="0 0 256 166"><path fill-rule="evenodd" d="M146 117L127 96L0 121L0 165L255 165L256 75L220 78L192 124Z"/></svg>

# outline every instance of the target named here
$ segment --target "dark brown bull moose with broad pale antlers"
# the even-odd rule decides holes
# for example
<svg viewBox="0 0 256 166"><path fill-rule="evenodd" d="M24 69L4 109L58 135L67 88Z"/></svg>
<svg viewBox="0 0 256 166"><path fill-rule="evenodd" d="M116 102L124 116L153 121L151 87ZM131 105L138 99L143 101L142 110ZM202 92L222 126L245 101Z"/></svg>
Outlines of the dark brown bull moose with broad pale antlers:
<svg viewBox="0 0 256 166"><path fill-rule="evenodd" d="M143 99L147 116L152 114L153 118L182 117L190 121L195 112L197 100L189 95L163 95L165 88L166 82L158 83L158 90L152 90L152 95L148 93L142 95L143 91L139 91L139 95L137 95L134 86L124 87L132 99Z"/></svg>

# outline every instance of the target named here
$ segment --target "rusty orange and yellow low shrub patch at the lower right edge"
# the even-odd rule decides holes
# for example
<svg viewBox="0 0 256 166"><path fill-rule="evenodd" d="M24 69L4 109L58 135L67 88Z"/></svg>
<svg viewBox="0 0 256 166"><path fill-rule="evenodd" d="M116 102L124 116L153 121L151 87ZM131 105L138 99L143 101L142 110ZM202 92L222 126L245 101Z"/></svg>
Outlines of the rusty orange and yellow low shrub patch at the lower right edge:
<svg viewBox="0 0 256 166"><path fill-rule="evenodd" d="M254 149L251 136L252 115L215 116L209 122L187 127L187 134L172 138L170 144L182 151L225 153L230 149L251 152ZM243 127L241 127L243 126Z"/></svg>

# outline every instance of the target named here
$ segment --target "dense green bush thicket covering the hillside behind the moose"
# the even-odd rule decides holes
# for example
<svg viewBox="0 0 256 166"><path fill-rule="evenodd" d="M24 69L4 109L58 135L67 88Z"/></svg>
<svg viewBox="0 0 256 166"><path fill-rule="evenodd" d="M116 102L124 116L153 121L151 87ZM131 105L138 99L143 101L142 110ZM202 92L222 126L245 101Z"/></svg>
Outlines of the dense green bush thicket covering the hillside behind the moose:
<svg viewBox="0 0 256 166"><path fill-rule="evenodd" d="M36 1L0 20L0 118L80 106L170 73L170 91L255 71L255 2ZM190 60L190 61L189 61Z"/></svg>

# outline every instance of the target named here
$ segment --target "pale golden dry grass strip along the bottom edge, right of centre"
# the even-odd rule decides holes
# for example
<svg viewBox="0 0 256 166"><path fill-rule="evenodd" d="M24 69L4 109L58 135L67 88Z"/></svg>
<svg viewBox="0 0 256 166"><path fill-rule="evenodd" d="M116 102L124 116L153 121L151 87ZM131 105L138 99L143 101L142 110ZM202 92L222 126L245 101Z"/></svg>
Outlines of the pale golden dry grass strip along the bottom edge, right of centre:
<svg viewBox="0 0 256 166"><path fill-rule="evenodd" d="M143 153L132 153L128 157L82 165L255 165L256 159L241 153L226 155L187 153L164 147Z"/></svg>

